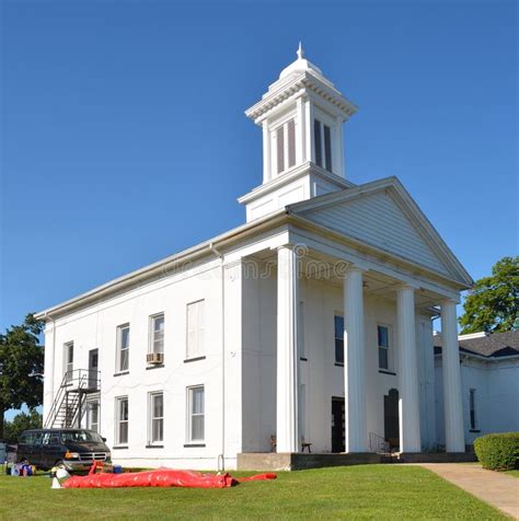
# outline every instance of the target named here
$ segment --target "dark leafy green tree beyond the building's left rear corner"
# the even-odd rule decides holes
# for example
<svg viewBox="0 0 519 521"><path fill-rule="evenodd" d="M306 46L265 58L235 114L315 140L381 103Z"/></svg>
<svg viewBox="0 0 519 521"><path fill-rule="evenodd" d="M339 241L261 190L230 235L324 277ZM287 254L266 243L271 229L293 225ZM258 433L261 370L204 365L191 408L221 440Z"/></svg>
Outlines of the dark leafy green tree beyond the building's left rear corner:
<svg viewBox="0 0 519 521"><path fill-rule="evenodd" d="M43 398L44 349L38 336L43 323L32 314L22 325L0 335L0 440L5 410L37 407Z"/></svg>

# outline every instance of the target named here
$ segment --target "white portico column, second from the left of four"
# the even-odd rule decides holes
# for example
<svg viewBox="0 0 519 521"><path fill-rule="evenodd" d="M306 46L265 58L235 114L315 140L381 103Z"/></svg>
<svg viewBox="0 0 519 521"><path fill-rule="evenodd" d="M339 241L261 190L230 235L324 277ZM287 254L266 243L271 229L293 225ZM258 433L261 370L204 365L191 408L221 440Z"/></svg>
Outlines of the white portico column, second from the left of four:
<svg viewBox="0 0 519 521"><path fill-rule="evenodd" d="M346 452L367 452L362 270L344 280L344 383Z"/></svg>

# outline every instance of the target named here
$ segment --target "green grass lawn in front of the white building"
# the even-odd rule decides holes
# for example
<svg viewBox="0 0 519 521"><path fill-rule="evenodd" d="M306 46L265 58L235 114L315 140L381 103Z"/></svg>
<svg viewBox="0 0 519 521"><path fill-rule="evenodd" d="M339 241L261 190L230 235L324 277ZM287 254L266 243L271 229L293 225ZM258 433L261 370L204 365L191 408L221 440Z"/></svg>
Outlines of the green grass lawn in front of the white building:
<svg viewBox="0 0 519 521"><path fill-rule="evenodd" d="M232 473L238 476L250 473ZM46 476L0 476L0 519L506 519L418 466L278 473L227 489L50 489Z"/></svg>

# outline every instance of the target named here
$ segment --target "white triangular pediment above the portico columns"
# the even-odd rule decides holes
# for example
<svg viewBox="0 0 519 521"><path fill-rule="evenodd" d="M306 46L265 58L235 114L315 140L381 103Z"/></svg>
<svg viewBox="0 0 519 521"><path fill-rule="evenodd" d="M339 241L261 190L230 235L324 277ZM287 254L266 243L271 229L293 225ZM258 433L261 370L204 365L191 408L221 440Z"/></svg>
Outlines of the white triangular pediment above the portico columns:
<svg viewBox="0 0 519 521"><path fill-rule="evenodd" d="M470 286L472 279L395 177L296 204L290 211Z"/></svg>

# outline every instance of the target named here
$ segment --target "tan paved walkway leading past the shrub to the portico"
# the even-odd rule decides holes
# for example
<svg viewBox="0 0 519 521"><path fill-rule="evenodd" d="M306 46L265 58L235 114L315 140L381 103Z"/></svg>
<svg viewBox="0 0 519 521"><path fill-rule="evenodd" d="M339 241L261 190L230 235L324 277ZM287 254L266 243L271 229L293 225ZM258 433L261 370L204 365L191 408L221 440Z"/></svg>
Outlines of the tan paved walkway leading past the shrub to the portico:
<svg viewBox="0 0 519 521"><path fill-rule="evenodd" d="M464 463L417 463L519 520L519 478Z"/></svg>

